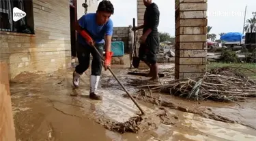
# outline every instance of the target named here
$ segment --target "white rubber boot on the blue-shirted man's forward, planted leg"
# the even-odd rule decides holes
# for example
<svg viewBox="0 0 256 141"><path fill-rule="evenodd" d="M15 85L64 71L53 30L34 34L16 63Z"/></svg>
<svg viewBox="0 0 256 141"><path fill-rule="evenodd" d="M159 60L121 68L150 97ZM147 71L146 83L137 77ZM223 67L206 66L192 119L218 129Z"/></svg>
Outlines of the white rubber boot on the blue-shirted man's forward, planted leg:
<svg viewBox="0 0 256 141"><path fill-rule="evenodd" d="M97 89L100 81L100 76L91 75L90 77L90 94L89 98L93 100L102 100L102 96L97 94Z"/></svg>

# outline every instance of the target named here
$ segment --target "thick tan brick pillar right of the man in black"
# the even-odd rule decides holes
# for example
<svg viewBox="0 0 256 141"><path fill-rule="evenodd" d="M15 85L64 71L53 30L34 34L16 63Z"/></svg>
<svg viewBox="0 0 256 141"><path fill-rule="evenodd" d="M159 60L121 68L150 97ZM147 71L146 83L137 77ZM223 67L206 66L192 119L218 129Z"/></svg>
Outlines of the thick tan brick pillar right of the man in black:
<svg viewBox="0 0 256 141"><path fill-rule="evenodd" d="M175 0L175 79L206 71L207 0Z"/></svg>

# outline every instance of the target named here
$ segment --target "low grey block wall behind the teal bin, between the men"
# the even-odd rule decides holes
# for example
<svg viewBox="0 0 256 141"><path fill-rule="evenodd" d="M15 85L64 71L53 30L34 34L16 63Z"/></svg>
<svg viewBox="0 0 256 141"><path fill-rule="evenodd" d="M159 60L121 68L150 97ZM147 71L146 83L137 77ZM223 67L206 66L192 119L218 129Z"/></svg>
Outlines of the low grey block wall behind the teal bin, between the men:
<svg viewBox="0 0 256 141"><path fill-rule="evenodd" d="M124 41L124 52L130 53L132 47L132 26L114 27L113 41Z"/></svg>

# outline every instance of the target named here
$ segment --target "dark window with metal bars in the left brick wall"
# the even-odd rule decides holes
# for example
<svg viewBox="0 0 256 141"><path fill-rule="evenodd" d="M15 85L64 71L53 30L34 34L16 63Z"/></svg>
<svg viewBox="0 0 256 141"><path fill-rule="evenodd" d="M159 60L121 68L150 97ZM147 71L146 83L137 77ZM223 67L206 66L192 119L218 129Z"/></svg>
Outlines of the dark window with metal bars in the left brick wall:
<svg viewBox="0 0 256 141"><path fill-rule="evenodd" d="M26 12L25 18L14 22L12 20L14 7ZM0 31L34 34L32 0L0 0Z"/></svg>

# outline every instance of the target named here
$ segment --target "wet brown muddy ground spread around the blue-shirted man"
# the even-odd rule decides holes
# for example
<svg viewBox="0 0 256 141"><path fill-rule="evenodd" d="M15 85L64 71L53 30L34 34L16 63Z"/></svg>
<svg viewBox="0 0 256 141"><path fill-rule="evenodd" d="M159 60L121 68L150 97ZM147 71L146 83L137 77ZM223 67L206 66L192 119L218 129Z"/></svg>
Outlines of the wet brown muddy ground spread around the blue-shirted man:
<svg viewBox="0 0 256 141"><path fill-rule="evenodd" d="M171 68L173 65L162 65ZM113 66L113 71L137 96L128 68ZM89 74L81 79L81 87L73 89L72 71L53 74L23 73L11 81L12 106L17 140L255 140L256 100L240 103L194 102L165 94L137 96L148 113L158 115L145 123L150 131L119 134L106 129L109 119L125 123L139 112L117 81L106 71L102 74L102 102L90 100ZM171 74L171 73L170 73ZM173 76L169 76L173 79ZM78 94L78 96L70 96ZM158 103L161 97L167 103ZM165 108L162 108L165 106ZM156 113L159 107L165 113ZM154 117L154 116L152 116ZM152 124L154 123L154 124ZM231 124L232 123L232 124ZM239 124L235 124L239 123ZM147 130L149 130L147 129ZM113 131L111 131L113 130Z"/></svg>

